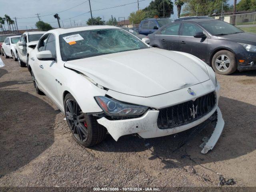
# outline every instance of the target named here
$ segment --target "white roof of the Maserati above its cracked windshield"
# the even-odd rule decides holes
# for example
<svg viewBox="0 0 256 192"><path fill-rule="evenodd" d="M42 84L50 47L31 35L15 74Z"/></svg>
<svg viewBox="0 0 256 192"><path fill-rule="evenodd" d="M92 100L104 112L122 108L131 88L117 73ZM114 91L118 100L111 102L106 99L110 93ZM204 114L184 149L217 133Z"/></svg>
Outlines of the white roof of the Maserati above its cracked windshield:
<svg viewBox="0 0 256 192"><path fill-rule="evenodd" d="M76 31L78 32L78 31L86 31L86 30L94 30L94 29L119 29L119 27L110 26L110 25L94 25L94 26L76 27L76 28L68 28L68 29L57 28L57 29L52 29L48 31L47 33L56 32L58 34L66 34L66 33L72 33Z"/></svg>

